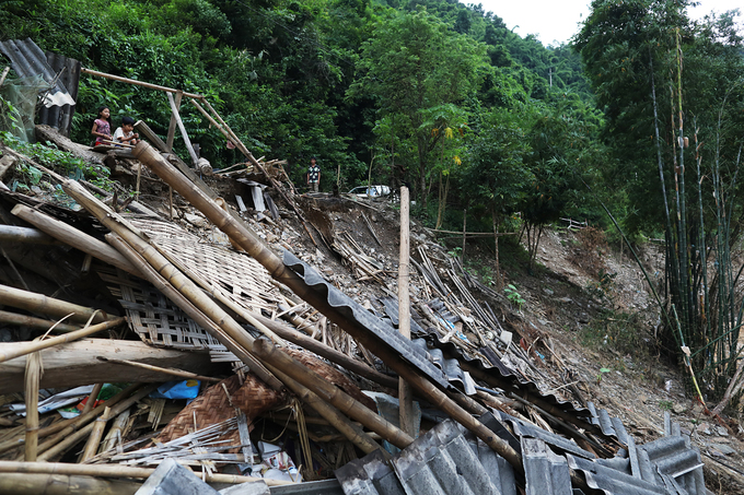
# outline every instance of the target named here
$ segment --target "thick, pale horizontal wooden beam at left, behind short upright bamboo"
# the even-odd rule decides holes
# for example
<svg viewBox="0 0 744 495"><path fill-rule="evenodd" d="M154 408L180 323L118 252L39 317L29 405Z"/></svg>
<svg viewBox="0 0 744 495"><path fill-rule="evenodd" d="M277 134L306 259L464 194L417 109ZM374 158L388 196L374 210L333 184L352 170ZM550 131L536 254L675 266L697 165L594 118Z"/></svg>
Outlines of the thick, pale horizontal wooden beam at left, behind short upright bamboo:
<svg viewBox="0 0 744 495"><path fill-rule="evenodd" d="M0 352L23 347L27 342L0 343ZM174 367L191 373L209 374L212 364L207 351L174 351L156 349L143 342L130 340L82 339L77 342L46 349L40 352L44 376L40 387L78 387L98 381L162 382L172 380L170 374L135 368L132 366L103 363L97 356L115 355L120 360ZM16 357L0 364L0 393L23 390L26 357Z"/></svg>

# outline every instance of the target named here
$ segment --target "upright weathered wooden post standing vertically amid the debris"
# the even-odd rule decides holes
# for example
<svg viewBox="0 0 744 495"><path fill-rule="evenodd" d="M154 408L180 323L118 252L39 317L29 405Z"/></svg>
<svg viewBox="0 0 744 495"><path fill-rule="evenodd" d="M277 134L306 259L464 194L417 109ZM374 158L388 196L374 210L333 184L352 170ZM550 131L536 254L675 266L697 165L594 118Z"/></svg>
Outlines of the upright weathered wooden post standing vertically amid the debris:
<svg viewBox="0 0 744 495"><path fill-rule="evenodd" d="M410 293L408 280L410 276L410 232L409 232L409 198L408 188L400 187L400 256L398 259L398 331L406 339L410 339ZM410 385L402 377L398 379L398 402L400 405L400 429L416 438L416 422L414 417L414 394Z"/></svg>

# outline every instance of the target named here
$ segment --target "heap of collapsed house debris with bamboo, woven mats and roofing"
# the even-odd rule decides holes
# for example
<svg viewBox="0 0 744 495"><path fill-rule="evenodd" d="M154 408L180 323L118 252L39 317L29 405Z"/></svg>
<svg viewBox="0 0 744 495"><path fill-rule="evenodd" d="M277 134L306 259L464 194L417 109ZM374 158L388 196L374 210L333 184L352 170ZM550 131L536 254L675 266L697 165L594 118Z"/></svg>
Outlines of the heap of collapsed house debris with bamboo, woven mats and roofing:
<svg viewBox="0 0 744 495"><path fill-rule="evenodd" d="M0 344L0 404L26 412L0 411L0 492L44 493L60 480L70 488L56 493L221 484L245 484L223 493L706 493L700 455L678 427L670 421L667 436L637 446L619 419L535 358L539 345L566 368L549 338L525 344L503 297L425 234L411 258L411 337L402 335L397 260L376 219L357 219L375 252L334 229L334 208L358 201L303 207L281 184L280 161L256 160L191 96L245 165L214 174L193 160L195 172L173 153L172 134L163 142L141 121L152 145L103 158L128 169L137 192L167 191L164 209L119 203L0 149L43 170L77 208L0 190L9 227L0 322L13 341ZM266 207L254 200L248 210L241 197L233 208L223 191ZM258 215L264 208L271 217ZM399 381L417 402L412 434L398 421ZM104 382L118 388L106 396ZM39 396L77 386L93 388L68 417L39 412Z"/></svg>

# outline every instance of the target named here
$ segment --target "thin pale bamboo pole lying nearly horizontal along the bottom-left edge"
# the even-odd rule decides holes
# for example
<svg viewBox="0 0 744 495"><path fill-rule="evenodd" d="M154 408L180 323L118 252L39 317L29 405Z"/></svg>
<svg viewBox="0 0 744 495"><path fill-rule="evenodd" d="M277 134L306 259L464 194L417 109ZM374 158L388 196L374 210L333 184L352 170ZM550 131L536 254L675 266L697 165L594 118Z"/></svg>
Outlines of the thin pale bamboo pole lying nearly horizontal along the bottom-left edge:
<svg viewBox="0 0 744 495"><path fill-rule="evenodd" d="M18 462L0 461L0 473L22 473L22 474L68 474L80 476L101 476L101 478L135 478L147 479L155 472L154 468L133 468L120 464L73 464L69 462ZM202 473L195 474L201 476ZM281 486L290 484L282 480L271 480L265 478L240 476L235 474L204 473L209 483L249 483L263 481L268 486ZM0 476L2 478L2 476Z"/></svg>

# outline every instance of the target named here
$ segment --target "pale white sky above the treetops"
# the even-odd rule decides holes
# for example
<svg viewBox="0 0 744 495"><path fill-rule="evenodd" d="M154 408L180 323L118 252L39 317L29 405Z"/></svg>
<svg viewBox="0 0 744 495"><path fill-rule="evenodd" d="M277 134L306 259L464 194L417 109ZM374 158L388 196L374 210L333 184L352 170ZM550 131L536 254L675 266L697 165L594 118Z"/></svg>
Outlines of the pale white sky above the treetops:
<svg viewBox="0 0 744 495"><path fill-rule="evenodd" d="M559 45L568 42L579 31L579 23L589 15L591 0L461 0L463 3L481 3L484 11L493 12L504 24L521 36L537 35L543 45ZM717 13L740 9L744 14L742 0L699 0L700 5L691 10L691 16L701 19L710 11ZM744 16L737 23L742 27ZM516 26L516 27L515 27ZM740 30L744 32L744 27ZM557 42L557 43L556 43Z"/></svg>

